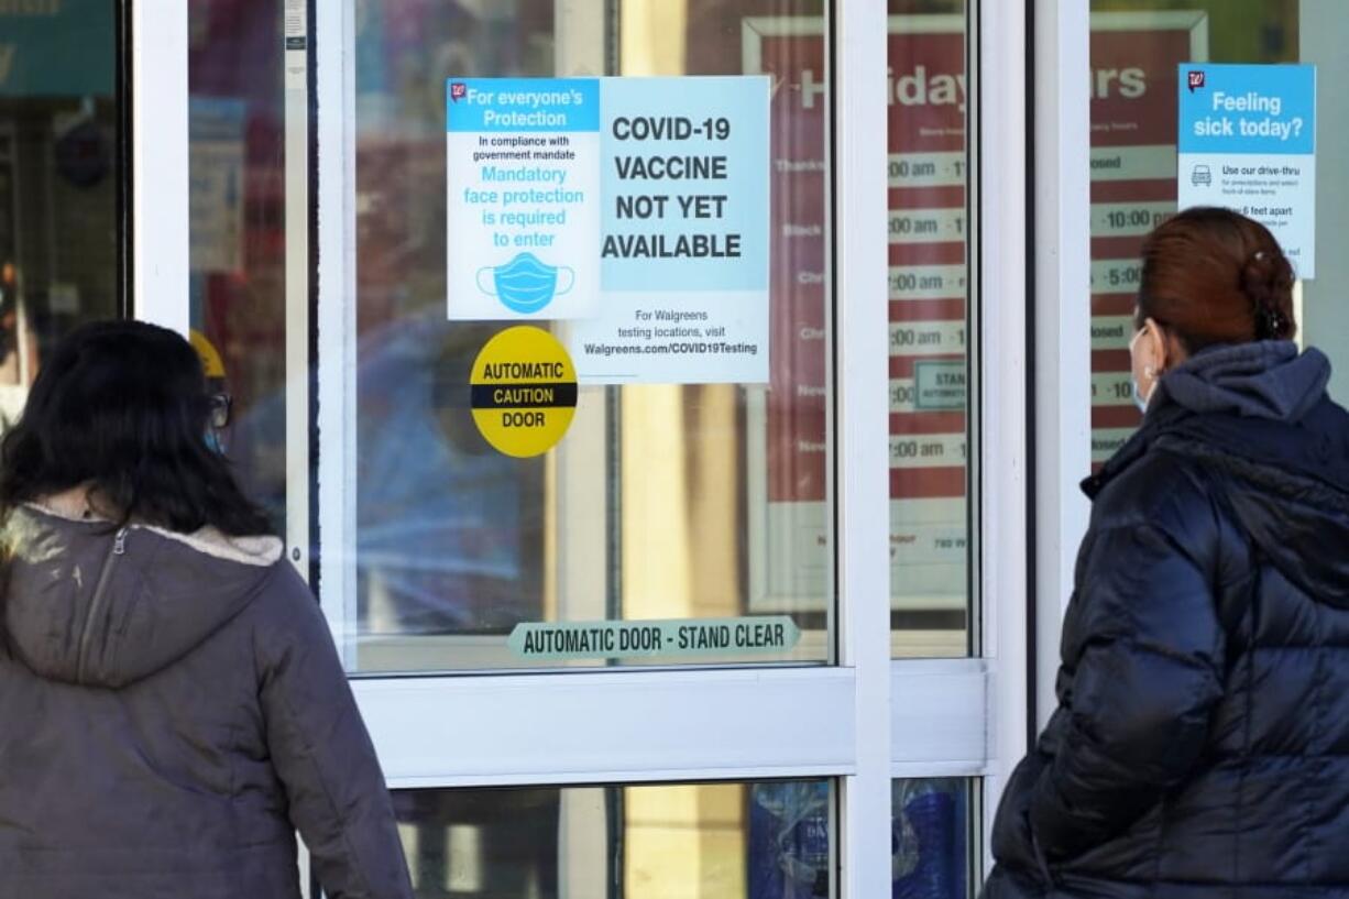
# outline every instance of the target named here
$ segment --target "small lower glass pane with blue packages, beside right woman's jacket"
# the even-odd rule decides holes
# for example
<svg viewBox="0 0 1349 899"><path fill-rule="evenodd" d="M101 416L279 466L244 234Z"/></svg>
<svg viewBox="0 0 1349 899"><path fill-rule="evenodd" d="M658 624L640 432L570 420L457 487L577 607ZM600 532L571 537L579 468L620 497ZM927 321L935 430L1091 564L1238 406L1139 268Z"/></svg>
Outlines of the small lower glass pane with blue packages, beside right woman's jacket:
<svg viewBox="0 0 1349 899"><path fill-rule="evenodd" d="M981 883L977 794L977 780L893 782L893 899L966 899L975 894Z"/></svg>

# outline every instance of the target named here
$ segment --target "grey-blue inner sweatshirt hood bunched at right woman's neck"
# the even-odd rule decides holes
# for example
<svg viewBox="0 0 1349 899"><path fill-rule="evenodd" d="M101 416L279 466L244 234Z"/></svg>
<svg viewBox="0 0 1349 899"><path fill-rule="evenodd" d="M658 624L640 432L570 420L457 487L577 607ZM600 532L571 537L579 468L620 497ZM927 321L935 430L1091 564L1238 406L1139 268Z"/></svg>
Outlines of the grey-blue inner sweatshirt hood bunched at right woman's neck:
<svg viewBox="0 0 1349 899"><path fill-rule="evenodd" d="M1174 402L1191 412L1298 421L1321 401L1330 360L1319 350L1298 352L1291 340L1261 340L1199 352L1157 383L1148 410Z"/></svg>

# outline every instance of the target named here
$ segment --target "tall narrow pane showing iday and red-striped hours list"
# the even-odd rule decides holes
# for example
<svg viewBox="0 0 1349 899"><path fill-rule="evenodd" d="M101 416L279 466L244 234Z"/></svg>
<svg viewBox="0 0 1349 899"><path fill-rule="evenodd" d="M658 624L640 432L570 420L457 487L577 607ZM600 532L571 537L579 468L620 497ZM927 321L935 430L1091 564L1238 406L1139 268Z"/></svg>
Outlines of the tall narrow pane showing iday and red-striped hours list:
<svg viewBox="0 0 1349 899"><path fill-rule="evenodd" d="M965 0L889 3L892 648L970 652Z"/></svg>

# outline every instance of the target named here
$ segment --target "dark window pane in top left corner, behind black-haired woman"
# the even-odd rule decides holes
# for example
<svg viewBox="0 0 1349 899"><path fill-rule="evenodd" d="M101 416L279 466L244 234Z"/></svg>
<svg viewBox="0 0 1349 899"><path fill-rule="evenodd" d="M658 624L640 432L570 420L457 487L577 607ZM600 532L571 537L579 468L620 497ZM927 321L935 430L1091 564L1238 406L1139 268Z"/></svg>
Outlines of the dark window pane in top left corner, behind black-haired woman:
<svg viewBox="0 0 1349 899"><path fill-rule="evenodd" d="M51 344L117 315L117 4L0 7L0 416Z"/></svg>

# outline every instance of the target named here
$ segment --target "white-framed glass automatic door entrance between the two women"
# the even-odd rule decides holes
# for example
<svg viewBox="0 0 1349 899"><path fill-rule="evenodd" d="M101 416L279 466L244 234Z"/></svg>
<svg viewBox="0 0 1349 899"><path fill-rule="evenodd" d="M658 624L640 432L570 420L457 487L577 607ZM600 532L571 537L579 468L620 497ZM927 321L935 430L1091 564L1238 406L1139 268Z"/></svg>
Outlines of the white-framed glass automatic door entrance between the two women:
<svg viewBox="0 0 1349 899"><path fill-rule="evenodd" d="M1025 622L979 13L190 4L189 324L418 895L977 890Z"/></svg>

